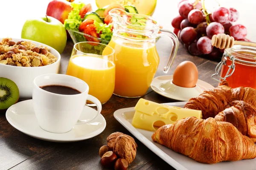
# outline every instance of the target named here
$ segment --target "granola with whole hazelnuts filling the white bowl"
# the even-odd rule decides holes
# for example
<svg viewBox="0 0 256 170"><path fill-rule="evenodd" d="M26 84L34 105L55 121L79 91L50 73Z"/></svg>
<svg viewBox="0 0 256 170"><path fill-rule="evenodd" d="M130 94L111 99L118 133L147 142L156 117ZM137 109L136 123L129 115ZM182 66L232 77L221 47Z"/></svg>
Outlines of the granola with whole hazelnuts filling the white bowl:
<svg viewBox="0 0 256 170"><path fill-rule="evenodd" d="M14 44L15 43L15 44ZM47 47L30 41L13 42L12 38L3 38L0 42L0 64L19 67L40 67L57 61Z"/></svg>

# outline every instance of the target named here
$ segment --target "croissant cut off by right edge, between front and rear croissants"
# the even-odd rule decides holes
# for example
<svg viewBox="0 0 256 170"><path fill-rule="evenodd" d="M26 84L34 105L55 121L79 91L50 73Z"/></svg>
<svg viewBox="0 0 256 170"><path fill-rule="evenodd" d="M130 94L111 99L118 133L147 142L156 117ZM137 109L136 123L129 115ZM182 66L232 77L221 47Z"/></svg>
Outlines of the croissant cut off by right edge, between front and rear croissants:
<svg viewBox="0 0 256 170"><path fill-rule="evenodd" d="M256 142L256 110L244 101L233 101L230 108L218 113L214 119L217 121L230 122L243 135Z"/></svg>

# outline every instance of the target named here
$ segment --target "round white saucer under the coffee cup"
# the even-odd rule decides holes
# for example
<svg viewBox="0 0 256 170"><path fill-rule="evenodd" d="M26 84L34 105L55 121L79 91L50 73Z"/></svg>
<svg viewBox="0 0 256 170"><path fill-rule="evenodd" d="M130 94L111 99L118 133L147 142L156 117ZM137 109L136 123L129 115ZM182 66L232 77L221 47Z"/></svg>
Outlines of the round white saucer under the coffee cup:
<svg viewBox="0 0 256 170"><path fill-rule="evenodd" d="M97 111L88 106L84 107L79 119L88 119L96 115ZM83 125L75 125L72 130L67 133L50 133L38 124L32 106L32 99L18 102L12 105L6 111L7 121L17 130L37 139L51 142L76 142L89 139L99 135L106 127L106 120L99 116L90 123Z"/></svg>

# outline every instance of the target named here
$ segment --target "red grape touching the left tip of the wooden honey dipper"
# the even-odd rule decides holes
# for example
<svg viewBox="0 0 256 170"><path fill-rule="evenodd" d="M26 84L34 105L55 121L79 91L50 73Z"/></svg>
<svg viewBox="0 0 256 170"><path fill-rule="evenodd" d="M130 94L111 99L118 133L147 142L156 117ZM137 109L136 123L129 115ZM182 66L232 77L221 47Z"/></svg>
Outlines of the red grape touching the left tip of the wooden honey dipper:
<svg viewBox="0 0 256 170"><path fill-rule="evenodd" d="M206 36L201 37L197 42L197 47L202 54L209 54L213 49L212 40Z"/></svg>

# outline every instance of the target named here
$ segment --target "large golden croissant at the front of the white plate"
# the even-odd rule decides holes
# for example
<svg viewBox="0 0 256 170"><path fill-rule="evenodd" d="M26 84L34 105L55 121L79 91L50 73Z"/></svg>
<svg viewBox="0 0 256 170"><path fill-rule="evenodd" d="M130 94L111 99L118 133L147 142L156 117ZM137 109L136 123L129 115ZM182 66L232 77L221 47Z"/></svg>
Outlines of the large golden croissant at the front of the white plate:
<svg viewBox="0 0 256 170"><path fill-rule="evenodd" d="M256 157L256 145L229 122L188 117L160 127L154 142L202 163L238 161Z"/></svg>

